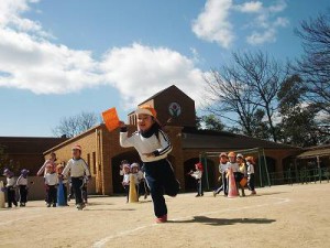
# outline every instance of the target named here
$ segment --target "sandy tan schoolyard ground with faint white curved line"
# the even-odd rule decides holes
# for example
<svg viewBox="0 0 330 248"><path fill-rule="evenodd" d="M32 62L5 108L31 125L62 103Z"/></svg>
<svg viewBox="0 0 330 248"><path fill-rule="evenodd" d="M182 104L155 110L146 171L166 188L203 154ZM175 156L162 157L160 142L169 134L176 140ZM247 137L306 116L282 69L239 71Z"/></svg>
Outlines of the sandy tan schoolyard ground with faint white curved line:
<svg viewBox="0 0 330 248"><path fill-rule="evenodd" d="M330 247L330 183L257 188L257 196L167 197L154 224L148 200L92 197L84 211L0 209L0 247Z"/></svg>

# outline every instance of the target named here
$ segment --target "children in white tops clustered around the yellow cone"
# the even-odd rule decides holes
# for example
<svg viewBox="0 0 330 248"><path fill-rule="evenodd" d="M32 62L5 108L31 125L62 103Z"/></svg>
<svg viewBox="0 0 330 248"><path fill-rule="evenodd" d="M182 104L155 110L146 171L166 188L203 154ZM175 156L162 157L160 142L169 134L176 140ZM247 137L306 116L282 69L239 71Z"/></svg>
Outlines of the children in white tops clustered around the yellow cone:
<svg viewBox="0 0 330 248"><path fill-rule="evenodd" d="M127 160L121 161L120 175L123 176L122 186L123 186L125 195L127 195L127 203L129 203L131 179L134 179L134 185L135 185L135 191L136 191L136 195L138 195L138 201L142 193L144 193L144 198L147 197L148 191L147 191L146 182L145 182L142 170L140 169L139 163L130 164L129 161L127 161ZM131 175L132 175L132 177L131 177Z"/></svg>

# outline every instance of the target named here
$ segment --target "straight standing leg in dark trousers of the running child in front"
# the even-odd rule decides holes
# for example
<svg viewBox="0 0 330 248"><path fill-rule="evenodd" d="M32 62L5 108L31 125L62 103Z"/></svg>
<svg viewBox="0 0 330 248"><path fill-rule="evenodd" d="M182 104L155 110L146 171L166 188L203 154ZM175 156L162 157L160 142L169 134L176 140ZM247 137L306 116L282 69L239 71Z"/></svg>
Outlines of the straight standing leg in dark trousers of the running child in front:
<svg viewBox="0 0 330 248"><path fill-rule="evenodd" d="M147 174L145 175L145 179L150 187L151 196L153 198L155 216L162 217L164 215L167 215L167 207L165 198L163 196L164 190L160 184L160 181Z"/></svg>

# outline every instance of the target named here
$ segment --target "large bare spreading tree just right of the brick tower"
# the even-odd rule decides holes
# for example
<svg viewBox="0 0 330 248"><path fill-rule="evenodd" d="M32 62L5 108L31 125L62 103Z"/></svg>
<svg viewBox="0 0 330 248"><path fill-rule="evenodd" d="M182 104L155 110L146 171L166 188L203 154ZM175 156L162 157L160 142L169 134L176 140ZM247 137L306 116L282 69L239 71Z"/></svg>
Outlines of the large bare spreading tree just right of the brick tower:
<svg viewBox="0 0 330 248"><path fill-rule="evenodd" d="M248 136L257 136L265 129L277 141L274 115L277 91L285 78L282 65L261 51L233 53L233 64L212 71L206 78L207 110L239 123ZM262 115L266 118L266 126Z"/></svg>

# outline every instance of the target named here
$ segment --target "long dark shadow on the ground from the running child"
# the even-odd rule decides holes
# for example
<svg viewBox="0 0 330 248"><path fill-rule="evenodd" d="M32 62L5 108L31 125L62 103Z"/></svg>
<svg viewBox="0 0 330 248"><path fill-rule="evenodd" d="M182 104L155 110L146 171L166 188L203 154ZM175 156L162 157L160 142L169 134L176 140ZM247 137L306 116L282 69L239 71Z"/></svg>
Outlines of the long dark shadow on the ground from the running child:
<svg viewBox="0 0 330 248"><path fill-rule="evenodd" d="M268 218L209 218L206 216L194 216L194 219L168 220L168 223L201 223L210 226L226 226L235 224L272 224L275 219Z"/></svg>

